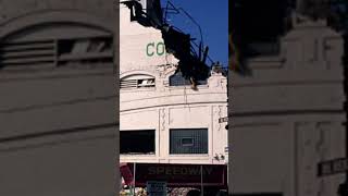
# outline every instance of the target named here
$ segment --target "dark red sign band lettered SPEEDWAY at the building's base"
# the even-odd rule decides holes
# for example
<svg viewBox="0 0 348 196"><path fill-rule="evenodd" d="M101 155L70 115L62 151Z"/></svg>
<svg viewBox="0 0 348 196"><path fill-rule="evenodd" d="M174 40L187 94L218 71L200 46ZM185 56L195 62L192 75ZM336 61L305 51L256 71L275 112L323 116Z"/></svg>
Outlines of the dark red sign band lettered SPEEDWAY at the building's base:
<svg viewBox="0 0 348 196"><path fill-rule="evenodd" d="M130 182L128 174L133 174L134 163L127 163L126 166L128 172L121 171L121 174L124 175L123 173L125 173L124 179ZM126 171L125 169L122 170ZM146 186L147 181L164 181L170 187L200 186L201 179L203 186L225 188L227 187L227 166L136 163L136 186Z"/></svg>

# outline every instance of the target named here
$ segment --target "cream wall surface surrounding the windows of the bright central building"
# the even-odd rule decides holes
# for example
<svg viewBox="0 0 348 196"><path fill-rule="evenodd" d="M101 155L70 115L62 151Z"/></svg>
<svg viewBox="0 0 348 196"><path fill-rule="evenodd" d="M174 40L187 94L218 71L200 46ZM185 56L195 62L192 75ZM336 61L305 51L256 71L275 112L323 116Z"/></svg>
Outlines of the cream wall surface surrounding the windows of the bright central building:
<svg viewBox="0 0 348 196"><path fill-rule="evenodd" d="M165 163L216 163L228 160L226 123L219 123L227 117L227 79L212 73L207 85L169 86L169 77L174 74L178 62L172 54L148 57L149 42L164 42L161 32L129 22L129 10L121 8L120 77L144 73L156 77L152 89L121 89L120 126L122 131L156 130L156 155L121 155L122 162L165 162ZM169 155L170 128L201 128L209 131L208 155ZM225 156L214 160L215 155Z"/></svg>

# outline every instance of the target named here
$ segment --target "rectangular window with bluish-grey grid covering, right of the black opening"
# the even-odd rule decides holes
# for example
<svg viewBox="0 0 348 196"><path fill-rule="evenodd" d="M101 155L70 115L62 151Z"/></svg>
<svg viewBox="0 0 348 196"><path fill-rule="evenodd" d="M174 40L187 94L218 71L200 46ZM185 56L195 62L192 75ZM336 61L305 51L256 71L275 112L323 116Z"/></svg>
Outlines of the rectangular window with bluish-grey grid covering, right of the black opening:
<svg viewBox="0 0 348 196"><path fill-rule="evenodd" d="M170 154L208 154L208 128L170 130Z"/></svg>

